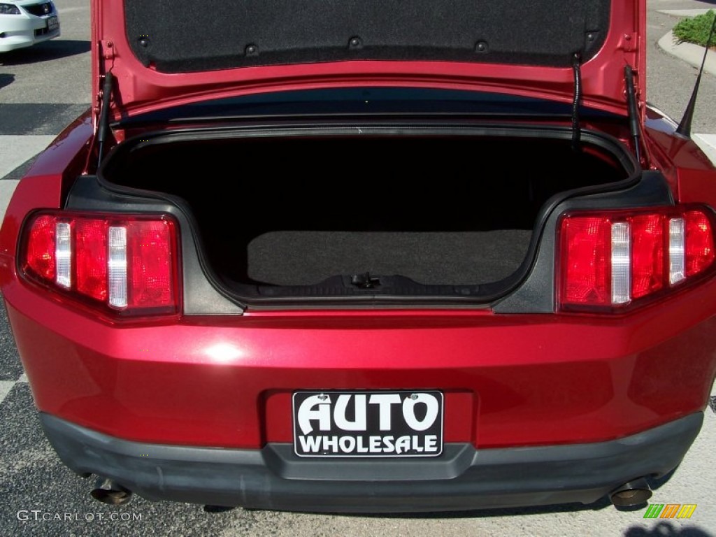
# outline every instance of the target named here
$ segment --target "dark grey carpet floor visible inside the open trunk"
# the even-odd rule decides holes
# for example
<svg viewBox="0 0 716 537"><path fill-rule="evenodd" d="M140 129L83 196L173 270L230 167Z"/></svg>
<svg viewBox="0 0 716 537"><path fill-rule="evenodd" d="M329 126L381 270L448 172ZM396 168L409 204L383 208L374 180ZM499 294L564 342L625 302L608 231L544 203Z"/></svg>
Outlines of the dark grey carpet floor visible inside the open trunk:
<svg viewBox="0 0 716 537"><path fill-rule="evenodd" d="M509 276L531 231L271 231L248 244L248 277L281 286L338 275L400 275L420 284L485 284Z"/></svg>

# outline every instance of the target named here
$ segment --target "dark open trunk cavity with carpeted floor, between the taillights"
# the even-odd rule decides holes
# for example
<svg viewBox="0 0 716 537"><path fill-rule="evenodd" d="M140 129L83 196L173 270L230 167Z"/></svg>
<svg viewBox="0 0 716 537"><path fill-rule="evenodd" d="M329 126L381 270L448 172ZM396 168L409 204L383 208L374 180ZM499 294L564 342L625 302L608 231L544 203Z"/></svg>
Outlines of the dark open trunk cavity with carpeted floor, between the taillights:
<svg viewBox="0 0 716 537"><path fill-rule="evenodd" d="M480 297L526 272L546 200L629 176L607 138L531 132L181 132L128 140L101 177L183 200L238 296Z"/></svg>

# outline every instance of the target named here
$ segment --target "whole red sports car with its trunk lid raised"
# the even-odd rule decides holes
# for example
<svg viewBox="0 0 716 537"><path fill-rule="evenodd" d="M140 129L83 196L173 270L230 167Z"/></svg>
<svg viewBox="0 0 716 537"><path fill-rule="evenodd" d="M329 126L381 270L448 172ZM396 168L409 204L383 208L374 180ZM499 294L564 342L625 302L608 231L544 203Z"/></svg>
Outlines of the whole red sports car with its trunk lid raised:
<svg viewBox="0 0 716 537"><path fill-rule="evenodd" d="M644 503L716 372L644 4L92 0L92 109L0 233L59 458L110 503Z"/></svg>

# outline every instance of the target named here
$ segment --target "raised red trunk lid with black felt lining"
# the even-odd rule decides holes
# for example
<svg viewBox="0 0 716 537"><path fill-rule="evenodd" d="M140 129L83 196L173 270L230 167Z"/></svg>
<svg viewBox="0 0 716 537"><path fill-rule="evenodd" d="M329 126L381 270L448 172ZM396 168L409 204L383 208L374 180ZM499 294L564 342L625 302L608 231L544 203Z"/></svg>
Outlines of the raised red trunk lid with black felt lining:
<svg viewBox="0 0 716 537"><path fill-rule="evenodd" d="M356 80L568 101L577 76L585 104L626 113L624 65L644 72L645 0L92 2L93 82L115 75L115 117Z"/></svg>

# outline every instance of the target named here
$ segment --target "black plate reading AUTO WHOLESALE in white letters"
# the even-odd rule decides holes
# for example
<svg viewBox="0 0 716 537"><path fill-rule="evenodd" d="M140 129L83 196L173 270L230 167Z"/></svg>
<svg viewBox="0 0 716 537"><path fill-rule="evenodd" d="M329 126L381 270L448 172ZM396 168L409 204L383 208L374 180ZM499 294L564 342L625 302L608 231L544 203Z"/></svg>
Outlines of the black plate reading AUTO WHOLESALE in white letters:
<svg viewBox="0 0 716 537"><path fill-rule="evenodd" d="M442 392L295 392L299 457L437 457Z"/></svg>

